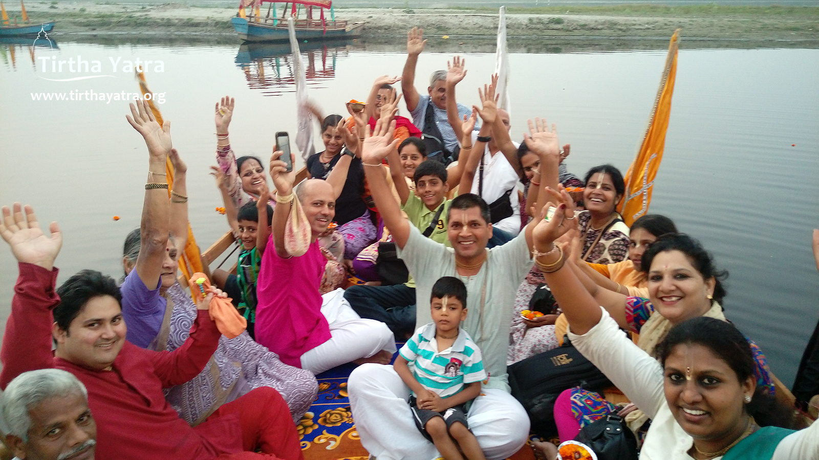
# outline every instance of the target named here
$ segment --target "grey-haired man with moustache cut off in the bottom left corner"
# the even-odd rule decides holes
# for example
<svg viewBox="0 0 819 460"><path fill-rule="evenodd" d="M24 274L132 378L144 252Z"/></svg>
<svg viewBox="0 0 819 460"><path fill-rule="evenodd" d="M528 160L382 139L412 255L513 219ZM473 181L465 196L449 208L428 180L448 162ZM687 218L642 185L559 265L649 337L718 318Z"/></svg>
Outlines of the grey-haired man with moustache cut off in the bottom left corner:
<svg viewBox="0 0 819 460"><path fill-rule="evenodd" d="M23 372L2 395L6 444L20 460L93 460L97 424L88 391L69 372Z"/></svg>

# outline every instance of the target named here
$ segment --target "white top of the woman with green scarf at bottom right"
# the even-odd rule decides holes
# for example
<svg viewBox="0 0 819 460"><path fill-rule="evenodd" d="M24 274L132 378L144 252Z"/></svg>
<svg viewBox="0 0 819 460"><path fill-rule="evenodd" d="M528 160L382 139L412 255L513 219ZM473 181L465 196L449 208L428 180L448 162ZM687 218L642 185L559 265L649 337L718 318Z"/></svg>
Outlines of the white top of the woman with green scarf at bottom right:
<svg viewBox="0 0 819 460"><path fill-rule="evenodd" d="M663 392L663 368L620 331L609 313L582 336L568 331L572 345L651 419L640 460L692 460L694 440L676 423ZM719 460L722 457L714 458ZM819 423L790 434L771 460L819 460Z"/></svg>

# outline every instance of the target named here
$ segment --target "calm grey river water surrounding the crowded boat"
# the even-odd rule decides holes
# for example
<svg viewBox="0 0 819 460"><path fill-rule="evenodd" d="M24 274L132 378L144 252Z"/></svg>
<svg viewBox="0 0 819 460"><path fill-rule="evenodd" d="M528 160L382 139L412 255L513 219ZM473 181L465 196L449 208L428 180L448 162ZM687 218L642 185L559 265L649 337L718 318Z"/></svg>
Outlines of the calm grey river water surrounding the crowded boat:
<svg viewBox="0 0 819 460"><path fill-rule="evenodd" d="M457 48L452 43L449 53L424 54L417 86L425 88ZM190 219L204 247L226 230L208 175L215 164L214 103L236 97L230 134L238 155L266 160L274 133L296 130L291 57L277 59L275 49L60 43L55 50L35 48L36 68L28 47L0 44L0 51L0 202L29 203L43 222L61 224L60 282L82 268L120 276L122 241L139 223L147 154L125 121L127 102L34 101L33 93L135 92L124 61L154 61L147 81L165 92L161 110L188 163ZM88 61L89 69L72 73L64 65L52 72L51 56ZM302 52L302 59L312 61L310 97L330 114L351 98L363 100L378 75L400 74L405 55L354 46ZM664 60L664 51L513 54L514 138L521 138L527 118L545 116L558 124L561 142L572 144L572 172L608 162L625 172ZM100 61L98 72L93 61ZM494 55L470 53L466 62L458 96L471 105L494 69ZM48 80L97 75L110 76ZM682 50L650 208L703 241L730 271L728 318L758 342L789 386L819 318L819 273L810 249L811 229L819 227L817 101L819 50ZM15 279L3 245L0 327Z"/></svg>

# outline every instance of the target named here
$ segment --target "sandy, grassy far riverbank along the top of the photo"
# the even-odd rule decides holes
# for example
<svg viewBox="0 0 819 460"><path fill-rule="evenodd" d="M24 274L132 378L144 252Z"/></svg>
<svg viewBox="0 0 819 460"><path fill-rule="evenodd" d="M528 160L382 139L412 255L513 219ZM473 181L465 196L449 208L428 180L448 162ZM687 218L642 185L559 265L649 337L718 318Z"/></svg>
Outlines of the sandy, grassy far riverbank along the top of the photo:
<svg viewBox="0 0 819 460"><path fill-rule="evenodd" d="M235 7L49 1L29 2L26 8L32 20L57 20L54 36L61 40L139 35L238 41L229 23ZM9 12L19 16L19 11ZM336 16L366 20L364 40L369 43L400 42L413 25L423 27L433 40L444 35L450 40L489 39L497 28L494 9L338 8ZM544 39L667 43L677 27L683 29L683 47L686 43L697 47L699 42L819 47L819 7L553 7L512 10L507 15L509 42L518 46Z"/></svg>

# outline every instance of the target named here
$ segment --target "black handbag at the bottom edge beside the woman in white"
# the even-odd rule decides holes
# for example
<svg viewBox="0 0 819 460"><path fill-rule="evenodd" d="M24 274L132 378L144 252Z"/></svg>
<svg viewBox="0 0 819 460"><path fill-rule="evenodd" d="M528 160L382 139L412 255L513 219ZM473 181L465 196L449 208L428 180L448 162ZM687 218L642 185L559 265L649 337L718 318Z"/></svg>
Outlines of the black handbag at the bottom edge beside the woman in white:
<svg viewBox="0 0 819 460"><path fill-rule="evenodd" d="M599 460L637 460L637 439L617 413L584 426L574 440L589 446Z"/></svg>

